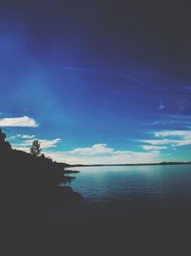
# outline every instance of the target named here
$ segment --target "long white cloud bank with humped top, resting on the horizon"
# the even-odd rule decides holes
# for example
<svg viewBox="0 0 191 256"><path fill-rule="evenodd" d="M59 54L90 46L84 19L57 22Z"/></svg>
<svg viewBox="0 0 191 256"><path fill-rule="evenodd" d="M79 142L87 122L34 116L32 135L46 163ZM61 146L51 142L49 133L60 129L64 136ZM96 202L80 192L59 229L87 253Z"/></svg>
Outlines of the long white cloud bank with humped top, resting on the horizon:
<svg viewBox="0 0 191 256"><path fill-rule="evenodd" d="M71 164L128 164L151 163L159 161L159 151L116 151L106 144L96 144L91 148L80 148L74 151L50 151L47 156L59 162Z"/></svg>

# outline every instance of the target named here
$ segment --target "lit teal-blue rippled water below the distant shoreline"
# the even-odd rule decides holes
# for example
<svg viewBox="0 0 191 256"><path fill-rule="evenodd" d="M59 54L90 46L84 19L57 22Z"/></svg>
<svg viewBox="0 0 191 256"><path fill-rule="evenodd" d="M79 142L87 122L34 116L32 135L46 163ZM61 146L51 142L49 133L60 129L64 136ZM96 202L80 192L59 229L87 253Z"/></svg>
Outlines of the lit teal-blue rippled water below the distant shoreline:
<svg viewBox="0 0 191 256"><path fill-rule="evenodd" d="M191 198L191 165L82 167L72 183L85 204Z"/></svg>

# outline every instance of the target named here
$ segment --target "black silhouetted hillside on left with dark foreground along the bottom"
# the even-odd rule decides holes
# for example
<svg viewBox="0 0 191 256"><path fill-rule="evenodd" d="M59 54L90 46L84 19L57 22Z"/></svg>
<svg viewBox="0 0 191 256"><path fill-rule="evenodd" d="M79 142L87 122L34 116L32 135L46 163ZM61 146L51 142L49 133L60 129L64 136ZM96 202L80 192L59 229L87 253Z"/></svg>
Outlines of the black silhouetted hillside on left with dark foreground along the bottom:
<svg viewBox="0 0 191 256"><path fill-rule="evenodd" d="M1 255L190 255L190 195L87 206L63 166L2 141Z"/></svg>

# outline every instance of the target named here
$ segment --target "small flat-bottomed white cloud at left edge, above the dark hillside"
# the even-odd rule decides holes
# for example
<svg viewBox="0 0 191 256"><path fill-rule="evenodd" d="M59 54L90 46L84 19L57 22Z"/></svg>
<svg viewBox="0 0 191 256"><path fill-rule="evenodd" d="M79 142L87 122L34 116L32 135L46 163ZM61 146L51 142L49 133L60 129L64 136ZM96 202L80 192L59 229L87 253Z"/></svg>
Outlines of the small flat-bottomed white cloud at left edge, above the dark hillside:
<svg viewBox="0 0 191 256"><path fill-rule="evenodd" d="M38 127L35 120L28 116L2 118L0 119L0 126L1 127L29 127L29 128Z"/></svg>

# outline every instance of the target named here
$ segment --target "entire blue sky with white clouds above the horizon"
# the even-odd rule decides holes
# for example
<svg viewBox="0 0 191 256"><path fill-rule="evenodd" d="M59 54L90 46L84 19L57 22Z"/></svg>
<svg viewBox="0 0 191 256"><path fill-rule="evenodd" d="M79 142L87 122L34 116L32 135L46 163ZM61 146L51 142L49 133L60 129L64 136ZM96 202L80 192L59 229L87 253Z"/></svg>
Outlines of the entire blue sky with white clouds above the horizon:
<svg viewBox="0 0 191 256"><path fill-rule="evenodd" d="M14 148L36 138L69 163L191 160L189 9L126 2L1 1L0 127Z"/></svg>

